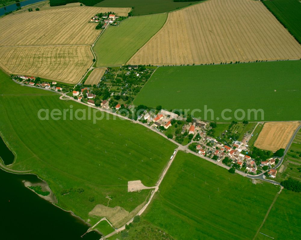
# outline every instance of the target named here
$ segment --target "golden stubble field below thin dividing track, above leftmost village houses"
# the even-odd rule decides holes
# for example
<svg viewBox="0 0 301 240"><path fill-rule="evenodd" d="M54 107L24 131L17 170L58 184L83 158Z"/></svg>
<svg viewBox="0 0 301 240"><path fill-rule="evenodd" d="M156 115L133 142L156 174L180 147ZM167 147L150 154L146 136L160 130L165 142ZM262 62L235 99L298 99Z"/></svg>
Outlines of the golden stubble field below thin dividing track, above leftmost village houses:
<svg viewBox="0 0 301 240"><path fill-rule="evenodd" d="M10 74L29 74L75 84L92 64L90 46L0 47L0 66Z"/></svg>

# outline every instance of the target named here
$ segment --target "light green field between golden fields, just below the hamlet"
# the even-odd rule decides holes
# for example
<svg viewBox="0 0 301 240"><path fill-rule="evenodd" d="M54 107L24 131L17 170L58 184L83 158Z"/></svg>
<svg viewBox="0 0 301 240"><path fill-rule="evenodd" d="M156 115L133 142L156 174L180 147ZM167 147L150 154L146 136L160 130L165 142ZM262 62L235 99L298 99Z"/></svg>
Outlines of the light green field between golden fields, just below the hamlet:
<svg viewBox="0 0 301 240"><path fill-rule="evenodd" d="M96 41L96 66L125 64L160 28L167 14L131 17L119 26L108 26Z"/></svg>

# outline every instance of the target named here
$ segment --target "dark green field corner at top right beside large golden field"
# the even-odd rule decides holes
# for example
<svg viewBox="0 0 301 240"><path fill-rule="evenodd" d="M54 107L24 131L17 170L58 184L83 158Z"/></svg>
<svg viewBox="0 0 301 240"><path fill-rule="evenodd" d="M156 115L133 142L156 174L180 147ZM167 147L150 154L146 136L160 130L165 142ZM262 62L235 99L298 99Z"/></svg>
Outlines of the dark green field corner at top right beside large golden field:
<svg viewBox="0 0 301 240"><path fill-rule="evenodd" d="M265 0L263 4L301 43L301 3L299 0Z"/></svg>

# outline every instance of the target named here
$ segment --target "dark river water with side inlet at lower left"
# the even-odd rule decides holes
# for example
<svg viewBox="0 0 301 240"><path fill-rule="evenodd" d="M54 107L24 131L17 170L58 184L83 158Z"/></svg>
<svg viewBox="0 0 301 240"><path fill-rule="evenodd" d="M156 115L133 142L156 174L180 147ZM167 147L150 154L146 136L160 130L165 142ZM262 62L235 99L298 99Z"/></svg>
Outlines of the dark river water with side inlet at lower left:
<svg viewBox="0 0 301 240"><path fill-rule="evenodd" d="M0 137L0 153L4 161L11 162L11 154ZM9 150L10 151L10 150ZM4 155L3 152L6 154ZM11 152L11 151L10 151ZM12 158L14 160L14 157ZM1 161L1 159L0 159ZM83 238L89 226L63 211L52 203L39 197L24 186L22 181L41 183L33 174L13 174L0 169L0 239L87 239L101 238L97 232L89 232Z"/></svg>

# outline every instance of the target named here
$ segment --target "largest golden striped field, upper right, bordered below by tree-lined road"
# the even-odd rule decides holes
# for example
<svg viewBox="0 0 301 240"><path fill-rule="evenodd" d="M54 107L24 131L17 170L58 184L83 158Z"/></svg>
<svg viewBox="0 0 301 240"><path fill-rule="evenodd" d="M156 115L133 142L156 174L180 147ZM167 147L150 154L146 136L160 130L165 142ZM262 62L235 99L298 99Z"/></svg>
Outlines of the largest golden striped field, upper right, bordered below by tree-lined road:
<svg viewBox="0 0 301 240"><path fill-rule="evenodd" d="M128 64L300 59L301 46L260 1L209 0L169 13Z"/></svg>

